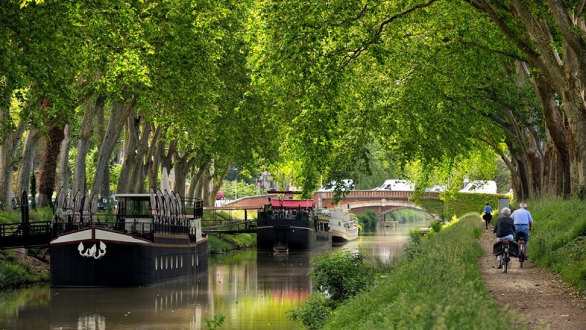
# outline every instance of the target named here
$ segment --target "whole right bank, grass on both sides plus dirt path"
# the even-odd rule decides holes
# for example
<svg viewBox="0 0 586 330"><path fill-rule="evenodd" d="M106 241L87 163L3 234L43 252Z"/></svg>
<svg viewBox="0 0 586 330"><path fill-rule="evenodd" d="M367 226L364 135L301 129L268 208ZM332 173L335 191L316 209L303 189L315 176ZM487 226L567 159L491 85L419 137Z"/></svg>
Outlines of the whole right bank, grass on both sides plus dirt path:
<svg viewBox="0 0 586 330"><path fill-rule="evenodd" d="M407 245L393 269L324 328L586 329L586 203L528 204L534 230L523 269L516 260L508 274L496 268L492 231L469 214Z"/></svg>

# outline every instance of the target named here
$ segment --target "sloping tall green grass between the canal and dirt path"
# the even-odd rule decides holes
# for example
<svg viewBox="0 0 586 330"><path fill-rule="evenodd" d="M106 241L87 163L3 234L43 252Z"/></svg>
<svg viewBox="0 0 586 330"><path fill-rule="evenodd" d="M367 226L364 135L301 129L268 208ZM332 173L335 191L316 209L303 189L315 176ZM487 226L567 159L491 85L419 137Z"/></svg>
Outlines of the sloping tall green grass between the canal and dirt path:
<svg viewBox="0 0 586 330"><path fill-rule="evenodd" d="M475 214L421 240L417 253L336 309L324 328L512 329L513 312L496 306L476 264L481 232Z"/></svg>

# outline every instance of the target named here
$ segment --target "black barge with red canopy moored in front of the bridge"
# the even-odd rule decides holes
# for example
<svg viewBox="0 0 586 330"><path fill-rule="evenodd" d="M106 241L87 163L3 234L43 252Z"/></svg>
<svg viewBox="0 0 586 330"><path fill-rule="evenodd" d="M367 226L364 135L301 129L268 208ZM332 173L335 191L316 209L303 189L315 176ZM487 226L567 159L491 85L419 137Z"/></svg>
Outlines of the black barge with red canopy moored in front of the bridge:
<svg viewBox="0 0 586 330"><path fill-rule="evenodd" d="M315 216L313 200L272 200L258 211L257 250L273 251L277 244L289 251L331 246L329 221Z"/></svg>

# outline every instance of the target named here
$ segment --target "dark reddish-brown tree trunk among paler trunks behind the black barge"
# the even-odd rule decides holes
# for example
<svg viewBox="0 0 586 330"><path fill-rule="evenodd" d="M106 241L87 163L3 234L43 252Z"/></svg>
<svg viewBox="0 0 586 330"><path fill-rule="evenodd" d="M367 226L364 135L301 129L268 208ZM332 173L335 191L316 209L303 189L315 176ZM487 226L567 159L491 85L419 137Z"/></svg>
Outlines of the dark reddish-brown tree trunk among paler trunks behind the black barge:
<svg viewBox="0 0 586 330"><path fill-rule="evenodd" d="M53 126L47 132L45 156L42 161L41 176L39 180L39 208L52 206L53 191L55 188L55 177L57 170L57 158L63 139L64 126Z"/></svg>

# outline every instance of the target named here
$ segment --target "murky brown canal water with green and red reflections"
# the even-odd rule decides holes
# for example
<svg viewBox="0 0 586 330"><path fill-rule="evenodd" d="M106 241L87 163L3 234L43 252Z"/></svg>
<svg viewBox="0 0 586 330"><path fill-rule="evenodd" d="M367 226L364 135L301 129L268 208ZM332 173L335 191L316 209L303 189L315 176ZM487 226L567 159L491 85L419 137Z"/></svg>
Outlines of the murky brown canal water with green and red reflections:
<svg viewBox="0 0 586 330"><path fill-rule="evenodd" d="M333 249L361 248L389 261L408 240L408 230L427 224L383 228ZM315 252L248 250L212 256L207 274L149 288L64 289L47 285L0 292L0 329L302 329L287 311L312 294Z"/></svg>

